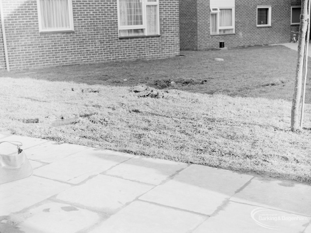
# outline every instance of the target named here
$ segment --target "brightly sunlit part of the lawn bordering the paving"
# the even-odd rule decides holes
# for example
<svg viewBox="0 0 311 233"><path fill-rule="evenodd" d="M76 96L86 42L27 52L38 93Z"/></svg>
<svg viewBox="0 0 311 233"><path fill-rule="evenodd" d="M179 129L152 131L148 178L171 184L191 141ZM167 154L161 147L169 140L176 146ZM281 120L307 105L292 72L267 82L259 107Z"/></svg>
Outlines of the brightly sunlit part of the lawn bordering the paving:
<svg viewBox="0 0 311 233"><path fill-rule="evenodd" d="M180 90L156 99L138 97L140 87L33 78L1 83L0 127L16 134L311 182L309 104L308 129L292 133L291 103L281 99ZM61 119L77 120L51 126Z"/></svg>

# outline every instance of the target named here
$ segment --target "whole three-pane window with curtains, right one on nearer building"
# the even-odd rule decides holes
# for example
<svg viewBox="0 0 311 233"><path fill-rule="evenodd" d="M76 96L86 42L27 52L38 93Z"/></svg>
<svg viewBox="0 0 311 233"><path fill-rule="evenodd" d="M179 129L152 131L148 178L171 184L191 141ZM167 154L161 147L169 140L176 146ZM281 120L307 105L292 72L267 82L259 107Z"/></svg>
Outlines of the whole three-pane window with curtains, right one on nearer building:
<svg viewBox="0 0 311 233"><path fill-rule="evenodd" d="M119 37L159 35L159 0L118 0Z"/></svg>

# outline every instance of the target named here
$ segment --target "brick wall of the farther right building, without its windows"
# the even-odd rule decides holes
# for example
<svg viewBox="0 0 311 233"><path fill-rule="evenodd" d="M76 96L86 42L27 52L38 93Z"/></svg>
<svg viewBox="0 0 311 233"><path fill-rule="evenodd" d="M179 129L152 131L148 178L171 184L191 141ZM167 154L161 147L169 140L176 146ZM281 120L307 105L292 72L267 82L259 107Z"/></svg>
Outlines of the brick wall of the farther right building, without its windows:
<svg viewBox="0 0 311 233"><path fill-rule="evenodd" d="M180 8L183 2L180 0ZM182 50L204 50L218 48L219 42L225 42L225 47L239 47L262 44L290 42L290 0L235 0L235 34L210 35L209 0L197 0L197 44L189 48L189 43L180 40ZM257 5L272 7L272 26L257 27ZM181 18L184 10L180 9ZM180 21L182 24L182 21ZM180 28L186 27L181 25ZM189 27L193 27L192 24ZM180 38L184 38L185 29L180 30ZM193 43L192 43L193 44Z"/></svg>

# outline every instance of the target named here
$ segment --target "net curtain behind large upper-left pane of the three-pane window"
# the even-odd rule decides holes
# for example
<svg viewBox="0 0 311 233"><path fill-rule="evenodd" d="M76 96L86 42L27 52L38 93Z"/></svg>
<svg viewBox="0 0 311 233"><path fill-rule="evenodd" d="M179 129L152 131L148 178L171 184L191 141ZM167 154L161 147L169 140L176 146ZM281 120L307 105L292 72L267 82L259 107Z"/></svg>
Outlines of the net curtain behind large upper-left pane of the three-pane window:
<svg viewBox="0 0 311 233"><path fill-rule="evenodd" d="M142 25L142 2L140 0L119 0L120 25Z"/></svg>

